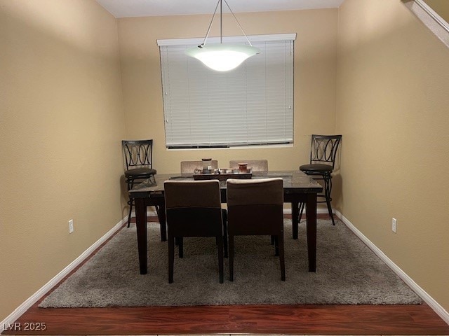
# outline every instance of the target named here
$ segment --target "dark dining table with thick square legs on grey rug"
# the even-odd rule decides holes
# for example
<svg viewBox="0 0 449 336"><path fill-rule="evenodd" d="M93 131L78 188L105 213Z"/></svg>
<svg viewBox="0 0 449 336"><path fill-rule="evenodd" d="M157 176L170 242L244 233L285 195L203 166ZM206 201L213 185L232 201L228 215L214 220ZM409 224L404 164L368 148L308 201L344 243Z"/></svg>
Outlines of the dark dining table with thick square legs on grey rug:
<svg viewBox="0 0 449 336"><path fill-rule="evenodd" d="M281 178L285 203L291 204L293 239L298 237L299 204L306 204L307 255L309 272L316 272L316 200L321 184L300 171L253 172L251 179ZM213 176L211 176L213 178ZM217 176L218 178L218 176ZM156 208L161 225L161 241L167 239L163 183L168 180L194 181L192 174L156 174L128 191L135 201L135 225L138 238L140 274L147 274L147 207ZM222 203L226 203L226 180L220 180Z"/></svg>

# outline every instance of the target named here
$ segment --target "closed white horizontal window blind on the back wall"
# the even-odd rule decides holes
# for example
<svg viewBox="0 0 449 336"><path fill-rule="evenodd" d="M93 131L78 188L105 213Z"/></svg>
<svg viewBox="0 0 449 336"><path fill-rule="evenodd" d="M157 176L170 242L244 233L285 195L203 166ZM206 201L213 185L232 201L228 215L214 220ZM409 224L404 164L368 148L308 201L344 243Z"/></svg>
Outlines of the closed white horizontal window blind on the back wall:
<svg viewBox="0 0 449 336"><path fill-rule="evenodd" d="M158 40L166 147L293 143L295 36L248 36L262 52L227 72L185 55L187 48L201 43L197 39ZM239 37L224 42L235 39Z"/></svg>

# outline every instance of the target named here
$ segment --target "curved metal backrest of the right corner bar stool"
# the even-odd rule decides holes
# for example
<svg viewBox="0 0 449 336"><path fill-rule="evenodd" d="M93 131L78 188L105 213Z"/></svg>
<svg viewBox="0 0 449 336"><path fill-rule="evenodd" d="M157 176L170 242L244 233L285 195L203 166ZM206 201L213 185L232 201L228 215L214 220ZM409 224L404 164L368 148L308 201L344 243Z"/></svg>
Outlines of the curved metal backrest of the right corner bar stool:
<svg viewBox="0 0 449 336"><path fill-rule="evenodd" d="M310 163L324 163L334 168L340 135L311 135Z"/></svg>

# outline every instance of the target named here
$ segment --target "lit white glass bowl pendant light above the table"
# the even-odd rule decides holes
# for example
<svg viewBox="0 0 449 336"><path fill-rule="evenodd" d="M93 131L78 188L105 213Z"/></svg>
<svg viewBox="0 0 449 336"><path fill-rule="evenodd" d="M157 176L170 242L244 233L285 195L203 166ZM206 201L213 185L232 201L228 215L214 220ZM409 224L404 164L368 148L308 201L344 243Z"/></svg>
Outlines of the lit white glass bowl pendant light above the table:
<svg viewBox="0 0 449 336"><path fill-rule="evenodd" d="M223 43L223 10L222 1L225 1L227 8L231 11L234 19L239 25L243 35L248 41L249 45L246 44L229 44ZM210 27L212 27L213 19L215 18L215 13L217 13L218 5L220 5L220 43L210 43L206 45L206 40L209 36ZM253 47L248 37L246 36L243 28L237 21L236 15L232 12L232 9L227 4L226 0L218 0L217 6L215 6L215 11L213 12L212 20L210 21L206 37L201 45L196 45L195 47L188 48L185 50L185 54L190 57L195 57L199 59L203 64L208 66L210 69L216 71L229 71L235 69L239 66L245 59L260 53L259 48Z"/></svg>

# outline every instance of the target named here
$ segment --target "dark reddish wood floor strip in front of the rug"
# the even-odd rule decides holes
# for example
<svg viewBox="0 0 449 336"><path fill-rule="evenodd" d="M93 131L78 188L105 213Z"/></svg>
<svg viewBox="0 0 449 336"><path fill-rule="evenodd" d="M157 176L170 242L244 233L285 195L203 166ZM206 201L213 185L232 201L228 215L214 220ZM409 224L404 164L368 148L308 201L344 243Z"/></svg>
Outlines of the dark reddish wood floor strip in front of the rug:
<svg viewBox="0 0 449 336"><path fill-rule="evenodd" d="M9 335L334 334L449 335L427 305L245 305L42 309L33 305ZM28 323L28 324L27 324ZM34 323L34 324L33 324ZM46 330L24 330L45 323ZM4 326L5 327L5 326Z"/></svg>

